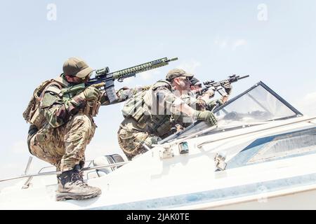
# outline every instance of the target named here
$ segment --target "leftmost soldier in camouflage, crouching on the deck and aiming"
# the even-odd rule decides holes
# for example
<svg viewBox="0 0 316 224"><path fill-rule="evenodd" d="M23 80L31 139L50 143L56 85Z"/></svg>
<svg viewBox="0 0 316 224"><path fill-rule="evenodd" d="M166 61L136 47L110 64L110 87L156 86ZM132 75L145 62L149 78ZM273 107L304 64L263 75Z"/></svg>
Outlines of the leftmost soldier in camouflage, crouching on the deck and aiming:
<svg viewBox="0 0 316 224"><path fill-rule="evenodd" d="M96 197L101 190L84 182L84 152L96 130L93 116L99 106L109 104L105 92L87 87L82 92L62 95L61 89L85 83L91 67L83 60L72 57L63 65L60 77L47 80L35 91L23 116L31 123L27 144L37 158L55 165L58 175L57 200L82 200ZM119 101L129 95L117 92Z"/></svg>

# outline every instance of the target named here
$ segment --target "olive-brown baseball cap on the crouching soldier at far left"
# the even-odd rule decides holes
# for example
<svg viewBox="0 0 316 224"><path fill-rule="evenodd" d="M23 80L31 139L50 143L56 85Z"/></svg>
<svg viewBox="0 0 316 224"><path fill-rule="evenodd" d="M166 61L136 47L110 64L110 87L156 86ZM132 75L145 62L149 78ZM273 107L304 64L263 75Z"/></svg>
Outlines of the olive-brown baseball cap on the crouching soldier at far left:
<svg viewBox="0 0 316 224"><path fill-rule="evenodd" d="M79 57L70 57L62 66L62 71L67 76L76 76L78 78L84 78L88 76L93 69Z"/></svg>

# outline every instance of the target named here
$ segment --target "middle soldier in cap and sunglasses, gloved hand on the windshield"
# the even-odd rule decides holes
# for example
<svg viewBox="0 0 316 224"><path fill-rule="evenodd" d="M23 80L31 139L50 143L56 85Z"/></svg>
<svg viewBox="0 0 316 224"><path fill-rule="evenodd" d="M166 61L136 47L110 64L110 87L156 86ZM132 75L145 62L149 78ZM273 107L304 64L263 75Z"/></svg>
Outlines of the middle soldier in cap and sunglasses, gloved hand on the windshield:
<svg viewBox="0 0 316 224"><path fill-rule="evenodd" d="M190 91L192 77L183 69L173 69L166 75L166 80L159 80L150 90L138 92L126 101L122 110L124 120L117 134L119 146L129 160L147 151L143 144L151 147L168 137L175 123L180 123L180 113L185 113L190 123L204 120L210 126L216 125L213 113L192 109L180 98Z"/></svg>

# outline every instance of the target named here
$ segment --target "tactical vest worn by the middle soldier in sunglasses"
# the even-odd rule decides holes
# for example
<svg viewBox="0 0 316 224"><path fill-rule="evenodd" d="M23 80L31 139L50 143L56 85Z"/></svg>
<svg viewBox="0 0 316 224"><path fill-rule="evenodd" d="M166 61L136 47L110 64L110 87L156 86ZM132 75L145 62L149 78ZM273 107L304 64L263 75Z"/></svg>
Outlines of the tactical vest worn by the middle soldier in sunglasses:
<svg viewBox="0 0 316 224"><path fill-rule="evenodd" d="M154 94L154 91L161 86L167 87L170 91L172 90L169 82L159 80L149 90L138 92L128 99L122 109L124 118L133 118L136 121L138 130L143 130L159 137L170 132L172 127L170 114L159 115L155 113L157 111L153 111L153 109L155 110L154 105L157 105L157 96Z"/></svg>

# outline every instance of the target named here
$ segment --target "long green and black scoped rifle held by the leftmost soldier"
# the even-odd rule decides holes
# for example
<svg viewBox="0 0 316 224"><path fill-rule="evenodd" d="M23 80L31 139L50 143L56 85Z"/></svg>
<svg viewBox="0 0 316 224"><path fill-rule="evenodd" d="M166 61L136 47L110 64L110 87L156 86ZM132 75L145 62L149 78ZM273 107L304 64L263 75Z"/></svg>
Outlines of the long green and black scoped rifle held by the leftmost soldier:
<svg viewBox="0 0 316 224"><path fill-rule="evenodd" d="M169 62L176 61L178 57L174 57L168 59L166 57L161 59L156 59L152 62L147 62L144 64L138 64L136 66L130 67L128 69L122 69L119 71L114 71L110 73L109 67L105 67L103 69L97 69L95 78L91 78L86 83L81 83L77 85L73 85L71 87L67 87L62 89L62 94L69 94L70 92L77 92L80 90L84 90L86 87L93 85L97 88L103 88L107 93L107 97L110 100L110 103L117 101L117 94L114 90L114 80L118 80L122 82L125 78L129 78L132 76L136 76L136 73L140 73L143 71L148 71L151 69L156 69L161 66L165 66L169 64Z"/></svg>

